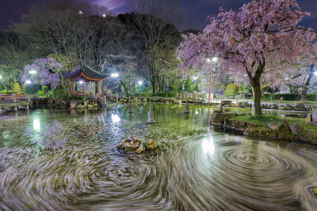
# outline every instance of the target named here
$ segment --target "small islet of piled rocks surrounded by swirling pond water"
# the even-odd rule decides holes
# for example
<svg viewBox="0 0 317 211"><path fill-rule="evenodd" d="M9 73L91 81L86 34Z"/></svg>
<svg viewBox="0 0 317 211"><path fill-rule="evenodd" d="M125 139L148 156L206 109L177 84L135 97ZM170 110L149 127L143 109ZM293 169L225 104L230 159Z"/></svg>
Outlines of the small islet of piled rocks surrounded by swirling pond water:
<svg viewBox="0 0 317 211"><path fill-rule="evenodd" d="M155 140L141 140L139 138L128 137L123 139L117 144L117 148L124 148L128 153L139 154L143 151L151 151L157 148L157 142Z"/></svg>

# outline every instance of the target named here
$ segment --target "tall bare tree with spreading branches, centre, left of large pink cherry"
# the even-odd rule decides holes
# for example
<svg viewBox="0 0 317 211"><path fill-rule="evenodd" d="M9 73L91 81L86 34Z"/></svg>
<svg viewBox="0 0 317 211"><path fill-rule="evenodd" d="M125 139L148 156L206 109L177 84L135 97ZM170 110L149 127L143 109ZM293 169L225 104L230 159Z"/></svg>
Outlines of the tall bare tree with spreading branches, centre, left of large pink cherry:
<svg viewBox="0 0 317 211"><path fill-rule="evenodd" d="M175 0L131 0L127 9L132 16L129 23L144 43L144 48L139 50L146 59L152 93L155 94L160 46L173 48L178 43L180 33L177 29L183 24L185 12Z"/></svg>

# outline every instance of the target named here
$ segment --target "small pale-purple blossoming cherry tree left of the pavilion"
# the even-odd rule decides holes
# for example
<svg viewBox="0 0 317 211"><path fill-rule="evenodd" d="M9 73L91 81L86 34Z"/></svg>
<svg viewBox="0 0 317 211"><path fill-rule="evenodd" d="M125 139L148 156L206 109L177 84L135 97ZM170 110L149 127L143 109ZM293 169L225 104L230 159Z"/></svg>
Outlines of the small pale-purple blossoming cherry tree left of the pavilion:
<svg viewBox="0 0 317 211"><path fill-rule="evenodd" d="M21 81L25 82L33 77L34 83L50 84L54 88L60 82L60 77L56 71L62 67L63 65L53 58L36 59L32 64L25 65L24 72L20 74ZM29 71L33 70L36 71L36 74L32 76Z"/></svg>

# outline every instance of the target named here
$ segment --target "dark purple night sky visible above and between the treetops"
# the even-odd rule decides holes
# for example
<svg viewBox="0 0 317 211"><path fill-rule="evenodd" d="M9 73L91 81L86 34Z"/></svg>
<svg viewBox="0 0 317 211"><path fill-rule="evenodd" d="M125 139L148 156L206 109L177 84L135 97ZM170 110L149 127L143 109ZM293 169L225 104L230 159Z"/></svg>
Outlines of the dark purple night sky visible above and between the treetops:
<svg viewBox="0 0 317 211"><path fill-rule="evenodd" d="M46 3L52 0L43 0ZM77 1L77 0L72 0ZM93 4L100 4L113 10L116 14L126 13L126 0L83 0ZM251 0L180 0L182 7L187 11L187 26L189 28L203 29L208 22L206 18L211 14L218 13L223 4L233 9L239 9L244 3ZM9 20L19 22L23 13L28 13L29 3L42 5L42 0L1 0L0 29L9 29ZM300 23L301 26L312 27L317 30L317 0L298 0L302 11L311 12ZM192 27L195 26L195 27ZM186 28L188 28L186 27Z"/></svg>

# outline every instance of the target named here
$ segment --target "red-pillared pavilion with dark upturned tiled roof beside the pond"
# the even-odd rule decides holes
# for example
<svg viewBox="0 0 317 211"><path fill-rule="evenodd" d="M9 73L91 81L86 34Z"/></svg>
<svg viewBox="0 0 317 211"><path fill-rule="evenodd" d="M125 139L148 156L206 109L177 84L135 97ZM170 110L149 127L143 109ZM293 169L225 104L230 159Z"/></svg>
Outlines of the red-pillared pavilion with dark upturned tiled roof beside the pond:
<svg viewBox="0 0 317 211"><path fill-rule="evenodd" d="M107 78L106 74L101 74L100 72L95 71L91 67L89 67L87 64L85 64L85 61L82 62L82 65L69 72L69 73L62 73L64 78L72 82L72 94L73 95L82 95L83 97L86 97L85 95L85 82L96 82L97 83L97 93L99 93L99 82L103 81ZM83 92L75 92L74 90L74 82L82 82L83 83Z"/></svg>

